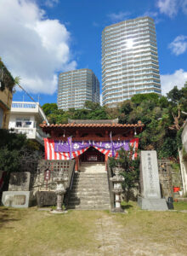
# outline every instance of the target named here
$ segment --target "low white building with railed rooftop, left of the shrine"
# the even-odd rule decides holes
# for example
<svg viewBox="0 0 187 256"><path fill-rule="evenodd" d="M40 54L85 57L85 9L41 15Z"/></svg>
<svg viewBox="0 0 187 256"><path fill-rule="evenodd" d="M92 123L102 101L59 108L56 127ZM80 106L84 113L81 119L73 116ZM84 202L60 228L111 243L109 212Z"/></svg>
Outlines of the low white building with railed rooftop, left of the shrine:
<svg viewBox="0 0 187 256"><path fill-rule="evenodd" d="M39 127L48 119L37 102L12 102L8 129L16 133L24 133L28 139L33 139L43 145L46 134Z"/></svg>

